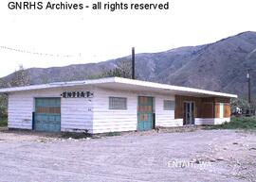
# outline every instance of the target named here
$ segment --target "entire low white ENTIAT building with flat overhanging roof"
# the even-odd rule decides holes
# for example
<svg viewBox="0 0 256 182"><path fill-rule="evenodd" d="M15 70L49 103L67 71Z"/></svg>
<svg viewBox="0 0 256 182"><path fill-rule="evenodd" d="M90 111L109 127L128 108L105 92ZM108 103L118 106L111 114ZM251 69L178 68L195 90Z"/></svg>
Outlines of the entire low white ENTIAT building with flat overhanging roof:
<svg viewBox="0 0 256 182"><path fill-rule="evenodd" d="M105 133L223 124L237 95L120 77L1 89L9 128Z"/></svg>

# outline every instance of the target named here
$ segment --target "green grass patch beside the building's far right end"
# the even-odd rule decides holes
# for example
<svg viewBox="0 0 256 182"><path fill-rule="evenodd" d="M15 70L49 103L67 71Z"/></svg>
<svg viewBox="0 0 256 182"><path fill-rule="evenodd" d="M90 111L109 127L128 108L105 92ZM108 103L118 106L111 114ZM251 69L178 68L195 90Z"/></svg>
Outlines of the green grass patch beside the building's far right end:
<svg viewBox="0 0 256 182"><path fill-rule="evenodd" d="M229 123L213 125L212 129L245 129L256 130L256 117L231 118Z"/></svg>

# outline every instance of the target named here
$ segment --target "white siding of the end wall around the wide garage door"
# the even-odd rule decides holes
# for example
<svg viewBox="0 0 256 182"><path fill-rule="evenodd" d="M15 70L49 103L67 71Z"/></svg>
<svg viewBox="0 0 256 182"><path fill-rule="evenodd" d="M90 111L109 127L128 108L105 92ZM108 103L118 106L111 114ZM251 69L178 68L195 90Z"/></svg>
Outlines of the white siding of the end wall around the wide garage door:
<svg viewBox="0 0 256 182"><path fill-rule="evenodd" d="M9 128L32 129L32 112L34 98L60 97L66 89L41 91L21 91L9 94ZM72 88L69 91L90 91L85 88ZM84 130L92 132L93 99L62 98L61 99L62 131Z"/></svg>

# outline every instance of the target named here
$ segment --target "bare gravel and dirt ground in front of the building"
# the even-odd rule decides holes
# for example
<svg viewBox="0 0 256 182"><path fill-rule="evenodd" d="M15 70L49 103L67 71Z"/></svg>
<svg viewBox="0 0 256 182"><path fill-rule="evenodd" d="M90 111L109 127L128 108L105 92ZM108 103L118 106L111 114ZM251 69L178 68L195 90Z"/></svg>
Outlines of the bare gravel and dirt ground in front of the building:
<svg viewBox="0 0 256 182"><path fill-rule="evenodd" d="M256 181L256 134L151 131L73 140L2 130L0 181Z"/></svg>

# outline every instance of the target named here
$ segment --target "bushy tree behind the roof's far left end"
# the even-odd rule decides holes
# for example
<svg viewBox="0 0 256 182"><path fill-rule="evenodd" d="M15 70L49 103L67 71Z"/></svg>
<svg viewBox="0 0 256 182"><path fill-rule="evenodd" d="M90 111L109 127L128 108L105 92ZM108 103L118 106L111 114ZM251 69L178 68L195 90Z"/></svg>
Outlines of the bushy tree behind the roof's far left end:
<svg viewBox="0 0 256 182"><path fill-rule="evenodd" d="M30 76L24 69L23 65L19 65L19 70L15 71L13 77L9 81L9 87L22 87L30 83Z"/></svg>

